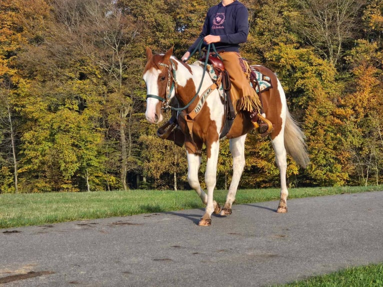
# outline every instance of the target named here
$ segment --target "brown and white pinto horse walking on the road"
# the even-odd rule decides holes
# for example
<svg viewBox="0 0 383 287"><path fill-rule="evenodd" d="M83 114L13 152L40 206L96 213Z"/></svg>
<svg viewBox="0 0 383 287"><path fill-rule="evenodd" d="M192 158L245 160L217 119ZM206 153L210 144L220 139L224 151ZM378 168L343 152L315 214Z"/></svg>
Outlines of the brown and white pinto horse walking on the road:
<svg viewBox="0 0 383 287"><path fill-rule="evenodd" d="M184 132L184 145L187 156L187 181L206 205L198 225L211 224L211 214L226 216L231 214L232 203L245 165L245 138L254 125L248 112L238 111L226 134L232 155L232 180L223 208L213 200L216 184L216 170L219 153L219 138L225 125L225 106L221 95L213 85L213 80L198 63L185 63L172 55L171 47L165 53L153 54L146 48L146 64L142 78L146 84L145 117L149 123L158 124L163 120L162 109L169 107L176 98L178 124ZM277 76L268 68L256 65L255 68L271 79L271 88L262 92L262 106L266 118L272 123L269 133L275 153L275 161L280 174L280 200L276 212L287 212L288 190L286 185L286 154L303 168L309 163L305 136L297 122L291 117L286 104L283 88ZM200 90L205 92L200 92ZM208 91L208 95L206 95ZM190 118L199 106L198 113ZM204 182L206 193L200 186L198 170L201 163L201 148L206 147L206 170Z"/></svg>

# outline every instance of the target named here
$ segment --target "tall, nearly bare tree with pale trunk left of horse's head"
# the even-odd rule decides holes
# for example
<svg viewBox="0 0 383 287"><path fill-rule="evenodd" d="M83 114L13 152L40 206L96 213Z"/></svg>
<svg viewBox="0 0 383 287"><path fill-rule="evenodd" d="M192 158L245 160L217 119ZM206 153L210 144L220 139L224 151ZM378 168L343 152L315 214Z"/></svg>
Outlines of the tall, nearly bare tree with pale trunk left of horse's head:
<svg viewBox="0 0 383 287"><path fill-rule="evenodd" d="M57 15L66 32L76 34L77 48L101 69L101 80L106 87L103 109L106 140L119 141L120 182L127 190L126 175L136 166L130 121L137 97L136 70L140 61L137 62L134 55L139 31L134 19L123 10L115 2L106 0L87 0L86 3L56 0ZM117 148L114 144L108 146Z"/></svg>

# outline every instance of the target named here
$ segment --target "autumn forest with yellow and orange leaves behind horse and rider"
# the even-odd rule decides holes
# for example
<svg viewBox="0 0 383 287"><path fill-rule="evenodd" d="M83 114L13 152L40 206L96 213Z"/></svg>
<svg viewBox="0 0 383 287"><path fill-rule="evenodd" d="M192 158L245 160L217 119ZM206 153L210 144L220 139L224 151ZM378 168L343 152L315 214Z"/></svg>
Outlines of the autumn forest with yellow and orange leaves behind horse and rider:
<svg viewBox="0 0 383 287"><path fill-rule="evenodd" d="M307 137L311 162L288 160L289 185L380 184L383 0L242 2L241 54L278 74ZM216 3L0 0L0 193L188 188L184 149L144 118L144 51L180 58ZM278 185L269 138L252 132L240 188Z"/></svg>

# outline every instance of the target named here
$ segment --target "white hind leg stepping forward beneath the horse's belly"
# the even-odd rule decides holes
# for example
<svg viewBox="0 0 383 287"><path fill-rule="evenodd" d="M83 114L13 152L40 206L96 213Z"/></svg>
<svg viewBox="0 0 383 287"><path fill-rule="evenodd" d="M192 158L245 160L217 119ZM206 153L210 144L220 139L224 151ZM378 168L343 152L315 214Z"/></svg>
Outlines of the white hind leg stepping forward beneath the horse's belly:
<svg viewBox="0 0 383 287"><path fill-rule="evenodd" d="M231 214L231 205L235 200L236 189L239 184L240 177L242 175L243 167L245 164L244 161L244 141L246 139L246 134L237 138L230 139L230 152L232 155L232 179L228 193L226 196L226 202L220 212L220 215L229 215Z"/></svg>

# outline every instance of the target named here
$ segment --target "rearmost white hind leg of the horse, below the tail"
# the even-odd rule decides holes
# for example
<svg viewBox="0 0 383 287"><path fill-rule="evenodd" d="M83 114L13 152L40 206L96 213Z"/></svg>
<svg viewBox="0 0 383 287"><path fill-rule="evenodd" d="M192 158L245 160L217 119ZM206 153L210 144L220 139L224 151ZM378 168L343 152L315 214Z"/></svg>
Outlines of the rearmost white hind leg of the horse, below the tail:
<svg viewBox="0 0 383 287"><path fill-rule="evenodd" d="M279 168L279 174L280 174L280 200L279 200L278 209L276 209L276 212L279 212L279 213L287 212L287 195L288 195L288 190L286 185L287 155L286 155L286 149L284 148L283 140L284 140L283 132L280 132L273 140L271 140L272 147L274 148L274 152L275 152L275 162Z"/></svg>

